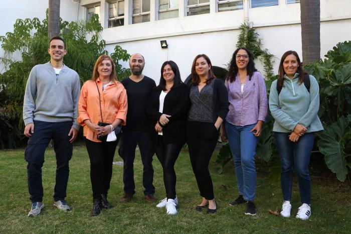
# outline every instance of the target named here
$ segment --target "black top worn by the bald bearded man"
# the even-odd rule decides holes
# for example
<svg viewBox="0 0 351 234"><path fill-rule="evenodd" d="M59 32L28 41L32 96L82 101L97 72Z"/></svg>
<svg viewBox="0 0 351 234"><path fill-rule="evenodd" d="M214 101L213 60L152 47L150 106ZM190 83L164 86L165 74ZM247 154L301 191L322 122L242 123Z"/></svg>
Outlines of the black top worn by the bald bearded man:
<svg viewBox="0 0 351 234"><path fill-rule="evenodd" d="M146 106L152 89L156 87L155 81L147 76L139 82L127 77L121 83L127 91L128 98L127 125L123 127L123 131L148 131Z"/></svg>

